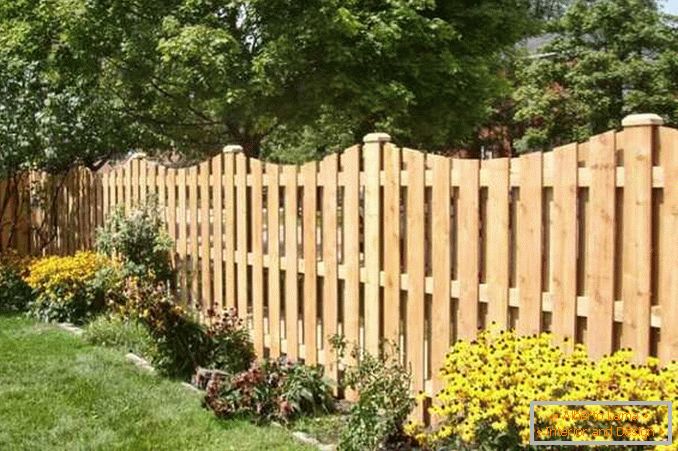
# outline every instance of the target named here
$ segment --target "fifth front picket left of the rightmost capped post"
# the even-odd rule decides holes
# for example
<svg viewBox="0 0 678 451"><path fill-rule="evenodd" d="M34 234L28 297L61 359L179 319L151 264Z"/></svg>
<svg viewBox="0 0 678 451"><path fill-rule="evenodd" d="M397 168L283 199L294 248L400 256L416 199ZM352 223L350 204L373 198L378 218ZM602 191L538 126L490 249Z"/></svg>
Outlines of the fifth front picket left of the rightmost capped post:
<svg viewBox="0 0 678 451"><path fill-rule="evenodd" d="M479 294L479 185L480 165L477 160L458 160L459 172L464 174L459 185L459 307L457 336L473 339L478 329Z"/></svg>

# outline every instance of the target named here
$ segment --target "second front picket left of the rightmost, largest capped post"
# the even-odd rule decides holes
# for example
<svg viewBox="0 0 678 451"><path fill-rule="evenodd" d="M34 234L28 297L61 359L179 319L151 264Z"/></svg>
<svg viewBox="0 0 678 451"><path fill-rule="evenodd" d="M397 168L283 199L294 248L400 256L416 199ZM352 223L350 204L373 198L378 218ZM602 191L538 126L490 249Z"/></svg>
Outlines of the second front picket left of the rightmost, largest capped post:
<svg viewBox="0 0 678 451"><path fill-rule="evenodd" d="M577 326L577 145L553 151L558 177L553 185L551 242L553 332L571 348Z"/></svg>

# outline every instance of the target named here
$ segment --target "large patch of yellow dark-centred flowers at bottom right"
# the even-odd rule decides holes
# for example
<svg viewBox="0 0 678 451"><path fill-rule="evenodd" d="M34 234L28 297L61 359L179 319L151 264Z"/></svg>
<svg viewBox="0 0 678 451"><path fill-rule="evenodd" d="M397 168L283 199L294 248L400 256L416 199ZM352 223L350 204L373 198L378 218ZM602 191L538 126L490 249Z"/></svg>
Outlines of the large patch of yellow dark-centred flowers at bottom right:
<svg viewBox="0 0 678 451"><path fill-rule="evenodd" d="M657 359L650 358L644 365L635 365L628 350L594 362L581 345L569 354L553 346L549 334L519 337L513 331L483 331L476 341L459 341L452 347L441 376L445 387L430 409L436 426L432 430L416 424L406 428L422 445L432 448L455 440L478 445L500 435L504 439L513 437L517 447L526 446L530 438L530 401L678 399L675 362L661 368ZM535 436L537 440L660 441L667 438L668 409L537 406L535 422L535 430L548 435ZM624 437L604 435L603 431L610 430L623 431ZM673 431L676 430L678 403L674 402ZM678 441L661 448L678 449Z"/></svg>

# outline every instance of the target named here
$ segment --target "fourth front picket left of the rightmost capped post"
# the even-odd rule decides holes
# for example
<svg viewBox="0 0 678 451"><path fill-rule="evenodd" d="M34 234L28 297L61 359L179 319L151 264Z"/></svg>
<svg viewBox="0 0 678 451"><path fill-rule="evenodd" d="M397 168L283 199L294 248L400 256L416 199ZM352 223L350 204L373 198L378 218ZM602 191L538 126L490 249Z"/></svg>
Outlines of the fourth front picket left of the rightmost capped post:
<svg viewBox="0 0 678 451"><path fill-rule="evenodd" d="M509 295L509 160L484 160L487 172L487 284L488 321L508 327Z"/></svg>

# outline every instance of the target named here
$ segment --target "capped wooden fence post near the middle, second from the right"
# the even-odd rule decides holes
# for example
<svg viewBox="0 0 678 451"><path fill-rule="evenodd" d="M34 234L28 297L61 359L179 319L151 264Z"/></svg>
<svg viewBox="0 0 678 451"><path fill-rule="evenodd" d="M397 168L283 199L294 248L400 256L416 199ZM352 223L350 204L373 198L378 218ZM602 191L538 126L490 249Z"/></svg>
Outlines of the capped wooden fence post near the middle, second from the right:
<svg viewBox="0 0 678 451"><path fill-rule="evenodd" d="M380 311L380 223L381 206L379 196L379 173L381 170L381 149L390 142L386 133L369 133L363 138L365 163L365 350L372 355L379 352Z"/></svg>

